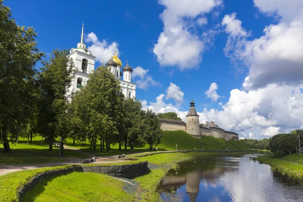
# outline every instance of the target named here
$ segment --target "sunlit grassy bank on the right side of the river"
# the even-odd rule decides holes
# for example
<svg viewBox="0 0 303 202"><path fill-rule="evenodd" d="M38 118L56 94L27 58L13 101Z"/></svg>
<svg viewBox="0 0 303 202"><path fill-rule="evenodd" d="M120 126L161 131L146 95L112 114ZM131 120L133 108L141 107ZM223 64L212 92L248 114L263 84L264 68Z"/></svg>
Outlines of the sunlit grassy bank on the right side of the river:
<svg viewBox="0 0 303 202"><path fill-rule="evenodd" d="M303 180L303 155L299 154L269 154L258 157L260 163L268 164L273 170L280 172L282 175L295 177Z"/></svg>

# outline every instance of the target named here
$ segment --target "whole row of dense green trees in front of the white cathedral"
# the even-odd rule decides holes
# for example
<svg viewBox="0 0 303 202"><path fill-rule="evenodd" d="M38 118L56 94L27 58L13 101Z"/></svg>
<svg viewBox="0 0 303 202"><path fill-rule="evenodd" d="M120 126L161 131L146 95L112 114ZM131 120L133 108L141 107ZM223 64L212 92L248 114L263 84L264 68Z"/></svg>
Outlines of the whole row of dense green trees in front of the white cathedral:
<svg viewBox="0 0 303 202"><path fill-rule="evenodd" d="M74 77L74 64L66 51L55 50L48 61L37 48L32 27L17 26L11 11L0 0L0 141L6 152L9 142L18 143L20 136L28 143L40 135L49 142L57 138L90 142L110 150L160 143L162 131L158 116L141 110L141 102L125 99L119 82L106 68L89 74L87 84L76 93L67 93ZM62 154L64 154L63 143Z"/></svg>

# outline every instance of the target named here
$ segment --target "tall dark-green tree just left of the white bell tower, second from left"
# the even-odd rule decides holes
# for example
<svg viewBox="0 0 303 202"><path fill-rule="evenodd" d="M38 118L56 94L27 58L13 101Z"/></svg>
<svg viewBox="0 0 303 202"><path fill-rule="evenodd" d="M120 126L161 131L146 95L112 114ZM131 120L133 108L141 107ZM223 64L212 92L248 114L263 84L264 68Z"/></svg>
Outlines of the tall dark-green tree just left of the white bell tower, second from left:
<svg viewBox="0 0 303 202"><path fill-rule="evenodd" d="M69 134L67 91L74 77L73 64L69 63L68 50L55 50L49 61L43 61L38 74L40 87L38 131L49 142L49 150L53 149L54 139ZM61 154L64 155L63 142Z"/></svg>

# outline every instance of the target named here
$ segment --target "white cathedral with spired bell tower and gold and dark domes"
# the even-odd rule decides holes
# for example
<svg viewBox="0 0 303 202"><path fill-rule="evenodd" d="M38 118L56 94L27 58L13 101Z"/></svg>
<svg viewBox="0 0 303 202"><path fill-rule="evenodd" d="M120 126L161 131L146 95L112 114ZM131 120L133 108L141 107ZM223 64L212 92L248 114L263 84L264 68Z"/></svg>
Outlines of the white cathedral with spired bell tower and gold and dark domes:
<svg viewBox="0 0 303 202"><path fill-rule="evenodd" d="M77 48L71 48L68 58L70 62L74 63L76 74L72 80L72 85L69 88L69 93L80 90L88 80L88 74L94 71L95 59L96 57L92 55L89 49L86 48L85 43L83 43L83 29L84 24L82 24L81 41L77 43ZM132 68L128 65L122 68L122 62L117 56L117 51L115 55L106 63L106 66L102 65L98 68L109 68L112 74L120 82L121 90L125 97L135 98L136 97L136 84L131 82ZM121 72L122 70L122 72Z"/></svg>

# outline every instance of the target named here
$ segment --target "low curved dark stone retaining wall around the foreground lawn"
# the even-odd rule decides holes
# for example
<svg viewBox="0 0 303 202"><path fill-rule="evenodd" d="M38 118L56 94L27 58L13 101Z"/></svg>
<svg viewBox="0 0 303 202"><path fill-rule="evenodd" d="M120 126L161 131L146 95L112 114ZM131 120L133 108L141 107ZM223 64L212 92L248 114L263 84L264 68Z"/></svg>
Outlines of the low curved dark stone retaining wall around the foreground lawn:
<svg viewBox="0 0 303 202"><path fill-rule="evenodd" d="M24 184L18 191L19 201L22 201L23 195L33 189L35 185L43 179L52 178L60 175L66 175L72 172L93 172L103 173L114 177L133 179L148 172L147 161L126 165L79 165L64 169L45 171L34 176L28 183Z"/></svg>

